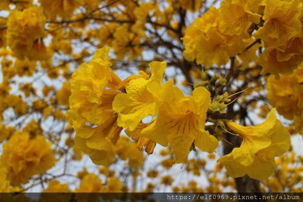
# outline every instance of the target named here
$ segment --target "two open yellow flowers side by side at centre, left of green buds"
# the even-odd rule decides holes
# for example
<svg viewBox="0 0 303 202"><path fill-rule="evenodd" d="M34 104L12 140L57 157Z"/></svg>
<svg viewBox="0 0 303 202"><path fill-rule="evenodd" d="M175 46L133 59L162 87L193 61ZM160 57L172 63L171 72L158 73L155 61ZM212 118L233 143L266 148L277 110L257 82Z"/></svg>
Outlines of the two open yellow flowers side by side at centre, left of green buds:
<svg viewBox="0 0 303 202"><path fill-rule="evenodd" d="M218 140L204 128L210 93L198 87L192 96L184 96L173 81L161 85L166 62L151 62L150 67L150 78L133 79L126 85L126 94L115 97L113 109L118 114L118 125L128 128L126 132L130 137L131 132L136 131L137 136L162 146L170 143L177 163L187 161L193 143L203 151L215 151ZM155 114L157 117L151 123L141 122Z"/></svg>

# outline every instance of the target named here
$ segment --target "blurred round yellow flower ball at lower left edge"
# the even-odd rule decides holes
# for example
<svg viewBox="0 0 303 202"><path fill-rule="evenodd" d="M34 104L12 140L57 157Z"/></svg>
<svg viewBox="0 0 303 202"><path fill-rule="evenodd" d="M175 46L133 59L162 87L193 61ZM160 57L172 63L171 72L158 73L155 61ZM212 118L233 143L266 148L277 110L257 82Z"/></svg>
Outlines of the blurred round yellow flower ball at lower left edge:
<svg viewBox="0 0 303 202"><path fill-rule="evenodd" d="M1 166L8 173L13 186L28 182L28 177L44 173L55 165L51 143L38 135L31 139L28 133L16 132L3 145Z"/></svg>

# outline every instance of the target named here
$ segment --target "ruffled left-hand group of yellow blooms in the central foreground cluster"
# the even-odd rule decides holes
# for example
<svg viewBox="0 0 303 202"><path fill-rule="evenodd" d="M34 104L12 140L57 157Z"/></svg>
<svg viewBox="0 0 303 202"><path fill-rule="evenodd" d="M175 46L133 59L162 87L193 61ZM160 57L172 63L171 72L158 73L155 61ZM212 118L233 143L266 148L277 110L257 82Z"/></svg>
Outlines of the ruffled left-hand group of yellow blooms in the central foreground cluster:
<svg viewBox="0 0 303 202"><path fill-rule="evenodd" d="M112 144L119 138L122 127L117 125L117 114L112 102L120 91L121 79L110 69L110 48L98 49L89 64L83 63L72 75L68 122L76 131L75 144L90 155L95 164L110 164L115 154ZM105 89L105 87L109 89ZM124 88L120 86L119 88ZM95 124L89 127L85 124Z"/></svg>

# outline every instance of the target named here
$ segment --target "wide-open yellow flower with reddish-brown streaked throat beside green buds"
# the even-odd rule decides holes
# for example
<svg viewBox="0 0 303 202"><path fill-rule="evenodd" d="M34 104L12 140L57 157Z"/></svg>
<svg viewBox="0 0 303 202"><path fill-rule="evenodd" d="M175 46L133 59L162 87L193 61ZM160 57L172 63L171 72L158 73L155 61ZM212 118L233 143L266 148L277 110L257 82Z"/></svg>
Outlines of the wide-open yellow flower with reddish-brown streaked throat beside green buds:
<svg viewBox="0 0 303 202"><path fill-rule="evenodd" d="M165 147L171 144L177 163L186 163L193 142L202 151L215 151L218 139L205 131L209 91L198 87L192 96L185 97L178 87L173 86L173 81L167 81L160 94L162 101L157 117L141 135Z"/></svg>

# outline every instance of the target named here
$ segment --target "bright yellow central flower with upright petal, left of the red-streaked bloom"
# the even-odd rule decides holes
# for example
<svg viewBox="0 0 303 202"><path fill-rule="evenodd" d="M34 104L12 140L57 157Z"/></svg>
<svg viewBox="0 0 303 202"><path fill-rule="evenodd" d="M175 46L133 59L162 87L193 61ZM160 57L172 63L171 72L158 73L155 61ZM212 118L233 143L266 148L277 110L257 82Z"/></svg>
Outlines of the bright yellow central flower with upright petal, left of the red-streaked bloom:
<svg viewBox="0 0 303 202"><path fill-rule="evenodd" d="M166 62L151 62L151 77L136 78L126 85L126 94L119 94L113 101L113 109L118 113L117 123L123 128L134 130L143 118L157 113L156 98L152 92L162 84Z"/></svg>

